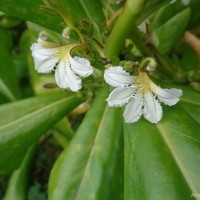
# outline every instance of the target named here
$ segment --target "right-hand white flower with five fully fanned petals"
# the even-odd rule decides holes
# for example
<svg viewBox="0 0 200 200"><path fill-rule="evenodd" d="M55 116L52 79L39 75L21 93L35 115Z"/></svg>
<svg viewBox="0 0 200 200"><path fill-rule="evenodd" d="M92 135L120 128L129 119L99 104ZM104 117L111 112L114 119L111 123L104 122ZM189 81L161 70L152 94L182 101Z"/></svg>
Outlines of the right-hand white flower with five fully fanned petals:
<svg viewBox="0 0 200 200"><path fill-rule="evenodd" d="M172 106L182 95L179 89L160 88L145 72L131 76L120 66L106 69L104 78L109 85L116 87L107 99L109 106L127 104L124 111L127 123L138 121L142 114L151 123L159 122L162 118L160 102Z"/></svg>

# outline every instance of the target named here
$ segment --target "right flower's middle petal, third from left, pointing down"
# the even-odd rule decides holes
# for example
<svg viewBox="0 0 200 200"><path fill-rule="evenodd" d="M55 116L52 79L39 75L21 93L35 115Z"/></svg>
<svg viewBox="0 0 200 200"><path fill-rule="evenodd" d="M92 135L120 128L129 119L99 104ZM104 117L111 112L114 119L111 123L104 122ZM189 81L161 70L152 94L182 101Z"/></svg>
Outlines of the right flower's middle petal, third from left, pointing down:
<svg viewBox="0 0 200 200"><path fill-rule="evenodd" d="M143 98L140 93L137 93L130 100L124 111L124 119L126 123L133 123L140 119L142 115Z"/></svg>

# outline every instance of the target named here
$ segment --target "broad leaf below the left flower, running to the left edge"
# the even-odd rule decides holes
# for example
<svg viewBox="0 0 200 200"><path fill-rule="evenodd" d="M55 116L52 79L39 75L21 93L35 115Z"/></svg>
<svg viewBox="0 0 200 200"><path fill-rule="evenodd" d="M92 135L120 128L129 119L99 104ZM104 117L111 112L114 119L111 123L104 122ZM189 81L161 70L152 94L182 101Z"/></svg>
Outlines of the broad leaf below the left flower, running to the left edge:
<svg viewBox="0 0 200 200"><path fill-rule="evenodd" d="M58 92L0 106L0 174L17 168L28 147L80 102Z"/></svg>

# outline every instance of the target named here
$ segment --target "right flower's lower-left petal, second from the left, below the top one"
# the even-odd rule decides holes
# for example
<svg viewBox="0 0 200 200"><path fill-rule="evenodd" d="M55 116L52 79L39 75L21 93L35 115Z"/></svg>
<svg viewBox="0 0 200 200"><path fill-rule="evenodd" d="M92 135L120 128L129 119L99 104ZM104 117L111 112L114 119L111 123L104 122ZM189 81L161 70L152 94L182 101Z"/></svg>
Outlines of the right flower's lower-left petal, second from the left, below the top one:
<svg viewBox="0 0 200 200"><path fill-rule="evenodd" d="M123 106L127 103L135 92L133 87L121 87L114 89L107 101L109 106Z"/></svg>

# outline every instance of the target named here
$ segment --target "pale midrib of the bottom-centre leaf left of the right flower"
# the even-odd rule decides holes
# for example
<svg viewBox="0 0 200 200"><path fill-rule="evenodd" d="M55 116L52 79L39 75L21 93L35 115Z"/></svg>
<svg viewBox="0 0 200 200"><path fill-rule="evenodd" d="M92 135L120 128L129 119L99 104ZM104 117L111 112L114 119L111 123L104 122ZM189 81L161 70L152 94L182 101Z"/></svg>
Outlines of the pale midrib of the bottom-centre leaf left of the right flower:
<svg viewBox="0 0 200 200"><path fill-rule="evenodd" d="M88 173L88 170L89 170L89 167L90 167L90 164L92 162L92 157L95 153L95 149L96 149L96 142L98 141L99 137L100 137L100 133L101 133L101 130L103 129L103 124L104 124L104 121L105 121L105 117L106 117L106 113L108 112L108 106L106 106L105 110L104 110L104 113L103 113L103 116L101 118L101 122L100 122L100 125L99 125L99 129L97 131L97 134L96 134L96 137L95 137L95 140L94 140L94 143L92 145L92 149L91 149L91 152L90 152L90 155L88 157L88 160L87 160L87 164L85 166L85 169L84 169L84 172L83 172L83 176L82 176L82 179L81 179L81 182L79 184L79 188L77 190L77 193L76 193L76 196L74 198L74 200L77 200L78 197L79 197L79 194L81 192L81 189L83 187L83 184L85 182L85 179L86 179L86 175Z"/></svg>

